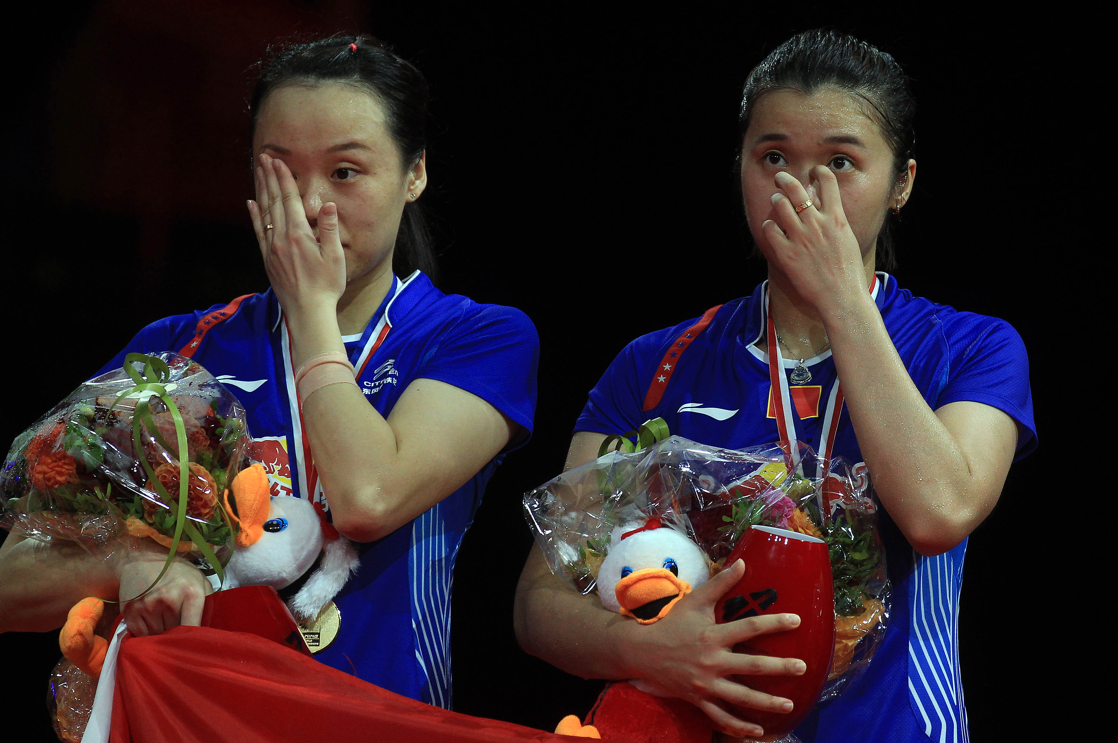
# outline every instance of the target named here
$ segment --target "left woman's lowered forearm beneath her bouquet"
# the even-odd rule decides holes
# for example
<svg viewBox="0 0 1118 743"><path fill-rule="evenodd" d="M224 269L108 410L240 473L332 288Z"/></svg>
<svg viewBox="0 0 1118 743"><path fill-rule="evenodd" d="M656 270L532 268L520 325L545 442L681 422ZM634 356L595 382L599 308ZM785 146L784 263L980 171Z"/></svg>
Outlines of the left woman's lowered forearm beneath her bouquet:
<svg viewBox="0 0 1118 743"><path fill-rule="evenodd" d="M9 534L0 549L0 632L58 629L75 603L88 596L115 599L119 585L108 561L74 542Z"/></svg>

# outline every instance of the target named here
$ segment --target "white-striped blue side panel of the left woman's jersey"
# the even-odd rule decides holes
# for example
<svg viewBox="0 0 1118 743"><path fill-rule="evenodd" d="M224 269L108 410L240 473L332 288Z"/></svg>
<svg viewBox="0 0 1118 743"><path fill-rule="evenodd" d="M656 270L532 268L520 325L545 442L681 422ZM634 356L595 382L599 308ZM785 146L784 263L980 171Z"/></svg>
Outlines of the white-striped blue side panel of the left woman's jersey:
<svg viewBox="0 0 1118 743"><path fill-rule="evenodd" d="M457 552L457 545L454 546ZM451 588L454 552L447 553L446 525L436 504L411 524L408 573L416 659L427 675L424 702L451 708Z"/></svg>

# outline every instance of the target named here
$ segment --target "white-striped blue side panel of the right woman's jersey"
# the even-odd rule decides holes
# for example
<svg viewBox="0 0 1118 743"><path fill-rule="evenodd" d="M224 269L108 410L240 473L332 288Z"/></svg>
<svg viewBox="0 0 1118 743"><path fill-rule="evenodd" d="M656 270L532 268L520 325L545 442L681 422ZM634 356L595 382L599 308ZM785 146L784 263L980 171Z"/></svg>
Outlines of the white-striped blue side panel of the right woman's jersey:
<svg viewBox="0 0 1118 743"><path fill-rule="evenodd" d="M912 553L909 697L937 743L969 743L959 673L959 593L967 543L925 558Z"/></svg>

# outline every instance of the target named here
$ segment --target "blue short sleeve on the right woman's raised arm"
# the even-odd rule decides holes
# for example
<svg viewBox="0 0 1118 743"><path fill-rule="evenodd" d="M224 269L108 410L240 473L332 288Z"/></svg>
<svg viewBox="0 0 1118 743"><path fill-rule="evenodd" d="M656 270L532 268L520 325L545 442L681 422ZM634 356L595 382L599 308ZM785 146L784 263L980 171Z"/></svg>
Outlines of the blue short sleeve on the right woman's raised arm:
<svg viewBox="0 0 1118 743"><path fill-rule="evenodd" d="M953 346L948 381L935 407L969 401L997 408L1020 426L1014 460L1030 454L1036 448L1036 423L1029 384L1029 354L1021 335L1008 323L995 321L969 343L949 337L948 344Z"/></svg>

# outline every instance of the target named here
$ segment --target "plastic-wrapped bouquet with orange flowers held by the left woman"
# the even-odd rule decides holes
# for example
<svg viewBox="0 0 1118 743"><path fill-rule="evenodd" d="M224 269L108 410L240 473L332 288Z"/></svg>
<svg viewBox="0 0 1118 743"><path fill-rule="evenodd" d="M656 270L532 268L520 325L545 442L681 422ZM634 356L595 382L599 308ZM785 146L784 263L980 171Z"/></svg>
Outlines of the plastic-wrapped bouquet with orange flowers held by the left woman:
<svg viewBox="0 0 1118 743"><path fill-rule="evenodd" d="M221 573L234 528L226 488L248 441L244 408L201 365L131 353L16 439L0 525L103 558L150 539Z"/></svg>

